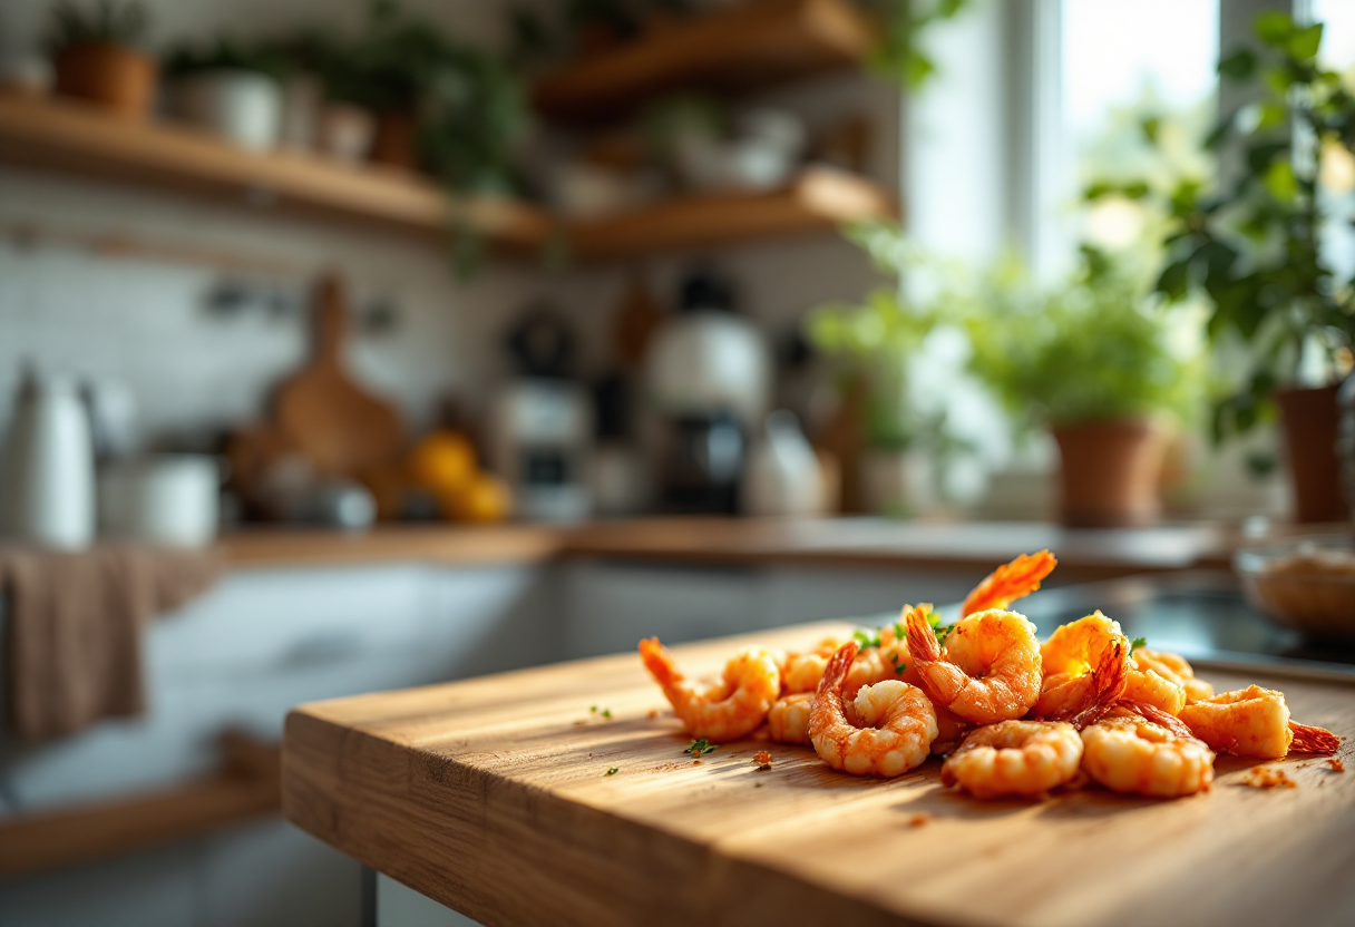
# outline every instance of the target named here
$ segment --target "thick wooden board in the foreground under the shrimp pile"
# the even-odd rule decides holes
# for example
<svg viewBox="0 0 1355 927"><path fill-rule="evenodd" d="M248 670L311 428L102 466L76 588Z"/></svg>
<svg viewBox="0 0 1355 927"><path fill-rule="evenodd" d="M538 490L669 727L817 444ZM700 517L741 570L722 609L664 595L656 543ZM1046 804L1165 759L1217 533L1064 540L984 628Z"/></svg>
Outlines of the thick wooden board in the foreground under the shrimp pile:
<svg viewBox="0 0 1355 927"><path fill-rule="evenodd" d="M841 629L675 652L717 672L734 646ZM1283 688L1301 721L1355 735L1351 682L1201 675ZM287 718L283 810L491 926L1355 923L1355 771L1321 758L1279 763L1294 789L1244 786L1253 763L1221 758L1177 801L978 802L935 759L878 781L756 739L695 763L688 743L634 655L318 702Z"/></svg>

